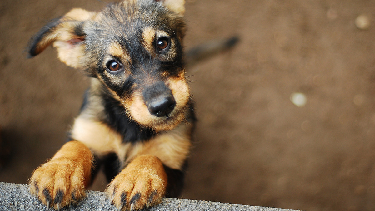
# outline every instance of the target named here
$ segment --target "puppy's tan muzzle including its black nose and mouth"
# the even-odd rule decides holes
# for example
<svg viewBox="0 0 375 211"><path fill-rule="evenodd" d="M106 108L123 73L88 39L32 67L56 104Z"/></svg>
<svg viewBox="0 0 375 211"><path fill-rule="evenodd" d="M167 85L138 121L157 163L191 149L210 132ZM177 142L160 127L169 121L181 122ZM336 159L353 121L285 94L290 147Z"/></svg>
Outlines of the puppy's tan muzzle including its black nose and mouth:
<svg viewBox="0 0 375 211"><path fill-rule="evenodd" d="M156 131L171 130L189 110L189 88L182 80L156 82L133 93L127 105L129 116Z"/></svg>

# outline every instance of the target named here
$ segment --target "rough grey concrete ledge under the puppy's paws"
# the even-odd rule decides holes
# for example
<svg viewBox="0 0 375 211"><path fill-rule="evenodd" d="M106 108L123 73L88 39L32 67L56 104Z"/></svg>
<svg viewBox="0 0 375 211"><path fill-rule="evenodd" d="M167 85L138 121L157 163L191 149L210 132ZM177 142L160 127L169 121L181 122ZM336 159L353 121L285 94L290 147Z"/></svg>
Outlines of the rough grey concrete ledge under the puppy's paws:
<svg viewBox="0 0 375 211"><path fill-rule="evenodd" d="M46 206L36 197L30 195L27 185L0 182L0 210L42 211ZM52 210L52 209L49 209ZM80 211L118 211L110 204L103 192L87 191L87 197L75 207L61 210ZM254 207L238 204L222 204L218 202L196 201L188 199L164 198L162 204L150 211L291 211L278 208Z"/></svg>

